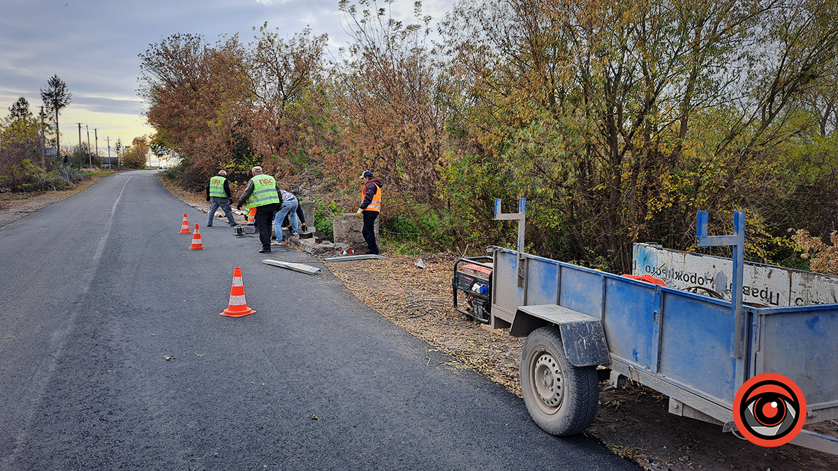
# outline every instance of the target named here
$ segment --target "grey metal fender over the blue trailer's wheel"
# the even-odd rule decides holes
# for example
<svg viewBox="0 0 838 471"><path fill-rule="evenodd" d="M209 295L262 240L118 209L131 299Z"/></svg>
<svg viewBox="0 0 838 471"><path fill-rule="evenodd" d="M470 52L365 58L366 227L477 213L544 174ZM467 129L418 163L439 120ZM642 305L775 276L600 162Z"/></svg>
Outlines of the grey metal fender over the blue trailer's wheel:
<svg viewBox="0 0 838 471"><path fill-rule="evenodd" d="M567 360L573 366L608 365L608 343L603 323L587 314L558 304L519 306L515 312L510 335L526 337L535 329L555 325L561 334Z"/></svg>

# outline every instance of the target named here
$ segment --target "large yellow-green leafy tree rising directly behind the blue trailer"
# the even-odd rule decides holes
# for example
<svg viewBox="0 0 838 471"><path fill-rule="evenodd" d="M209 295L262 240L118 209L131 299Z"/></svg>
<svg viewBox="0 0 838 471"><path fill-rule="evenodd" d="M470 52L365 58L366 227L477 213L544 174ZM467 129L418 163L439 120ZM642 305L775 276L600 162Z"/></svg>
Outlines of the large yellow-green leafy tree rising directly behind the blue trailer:
<svg viewBox="0 0 838 471"><path fill-rule="evenodd" d="M773 216L779 143L838 46L817 2L487 0L443 28L463 131L551 218L530 240L620 271L635 241L691 246L696 210Z"/></svg>

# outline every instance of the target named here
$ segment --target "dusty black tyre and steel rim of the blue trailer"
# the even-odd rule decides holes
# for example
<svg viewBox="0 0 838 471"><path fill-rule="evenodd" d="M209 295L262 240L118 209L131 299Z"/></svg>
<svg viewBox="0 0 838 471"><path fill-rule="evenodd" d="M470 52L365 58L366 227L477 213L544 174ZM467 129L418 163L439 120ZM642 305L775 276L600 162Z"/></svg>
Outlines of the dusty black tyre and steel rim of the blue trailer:
<svg viewBox="0 0 838 471"><path fill-rule="evenodd" d="M599 406L596 366L573 366L556 327L535 329L521 349L521 392L530 416L553 435L580 433Z"/></svg>

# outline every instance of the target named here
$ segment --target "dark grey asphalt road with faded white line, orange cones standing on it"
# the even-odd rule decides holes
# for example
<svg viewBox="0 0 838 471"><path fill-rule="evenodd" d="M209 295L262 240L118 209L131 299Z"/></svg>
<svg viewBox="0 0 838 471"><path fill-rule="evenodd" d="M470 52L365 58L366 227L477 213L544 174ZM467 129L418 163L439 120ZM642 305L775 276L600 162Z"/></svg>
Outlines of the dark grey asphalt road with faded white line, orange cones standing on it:
<svg viewBox="0 0 838 471"><path fill-rule="evenodd" d="M637 469L205 219L137 171L0 227L0 469Z"/></svg>

